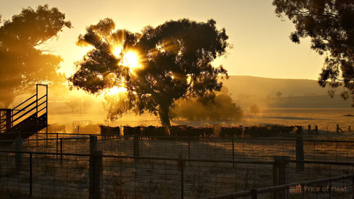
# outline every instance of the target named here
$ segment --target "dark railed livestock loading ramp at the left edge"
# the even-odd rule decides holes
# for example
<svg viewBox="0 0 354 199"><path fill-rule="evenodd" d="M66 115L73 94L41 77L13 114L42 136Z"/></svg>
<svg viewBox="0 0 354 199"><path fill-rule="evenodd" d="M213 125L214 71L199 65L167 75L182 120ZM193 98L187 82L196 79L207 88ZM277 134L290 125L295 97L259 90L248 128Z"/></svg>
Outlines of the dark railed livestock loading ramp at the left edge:
<svg viewBox="0 0 354 199"><path fill-rule="evenodd" d="M45 87L45 94L39 94L40 87ZM13 109L0 109L0 140L13 140L17 134L27 139L48 126L48 85L37 84L36 94Z"/></svg>

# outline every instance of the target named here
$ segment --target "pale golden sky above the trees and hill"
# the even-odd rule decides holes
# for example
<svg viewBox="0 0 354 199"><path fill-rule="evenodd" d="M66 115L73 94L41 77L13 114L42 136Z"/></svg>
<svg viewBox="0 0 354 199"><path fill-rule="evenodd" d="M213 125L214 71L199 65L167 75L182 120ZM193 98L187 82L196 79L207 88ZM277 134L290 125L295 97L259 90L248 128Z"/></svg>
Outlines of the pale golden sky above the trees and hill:
<svg viewBox="0 0 354 199"><path fill-rule="evenodd" d="M74 62L87 49L76 46L85 27L100 19L112 18L117 29L140 31L146 25L157 26L167 20L189 18L195 21L214 19L216 26L225 28L233 49L227 57L214 61L223 64L229 75L247 75L284 79L317 79L324 58L310 50L310 41L292 43L288 36L293 24L281 21L274 14L272 0L230 1L1 1L2 20L19 14L22 8L48 4L66 14L74 26L65 28L58 40L46 47L61 55L61 72L74 73Z"/></svg>

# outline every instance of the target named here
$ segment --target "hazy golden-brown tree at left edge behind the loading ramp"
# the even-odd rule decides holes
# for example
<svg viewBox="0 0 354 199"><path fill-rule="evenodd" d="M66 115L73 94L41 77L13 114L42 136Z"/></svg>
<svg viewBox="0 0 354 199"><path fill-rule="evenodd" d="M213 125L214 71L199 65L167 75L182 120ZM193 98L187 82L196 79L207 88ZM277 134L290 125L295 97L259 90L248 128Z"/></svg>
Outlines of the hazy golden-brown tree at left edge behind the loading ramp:
<svg viewBox="0 0 354 199"><path fill-rule="evenodd" d="M29 93L38 82L60 82L65 77L56 73L60 56L40 49L47 40L58 37L70 21L57 8L48 5L23 9L19 15L0 27L0 101L8 108L16 96ZM33 90L32 90L33 91Z"/></svg>

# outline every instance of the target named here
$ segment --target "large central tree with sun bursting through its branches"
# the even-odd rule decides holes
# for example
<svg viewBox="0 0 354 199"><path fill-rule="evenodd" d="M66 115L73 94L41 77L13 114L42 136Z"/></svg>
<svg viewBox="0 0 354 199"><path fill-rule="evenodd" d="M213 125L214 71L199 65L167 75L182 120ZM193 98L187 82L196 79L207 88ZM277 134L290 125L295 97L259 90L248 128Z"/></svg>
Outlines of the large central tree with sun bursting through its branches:
<svg viewBox="0 0 354 199"><path fill-rule="evenodd" d="M170 126L168 110L173 102L189 96L215 96L222 83L220 75L227 71L211 62L226 53L229 44L225 29L217 30L215 21L206 23L189 19L167 21L141 33L115 30L111 19L87 27L79 36L79 45L94 48L76 63L77 71L69 78L72 88L99 94L114 86L127 89L125 99L112 99L106 107L115 108L117 115L134 109L159 115L161 124ZM119 55L117 46L122 47ZM130 69L125 55L134 51L141 67ZM109 97L108 97L109 98Z"/></svg>

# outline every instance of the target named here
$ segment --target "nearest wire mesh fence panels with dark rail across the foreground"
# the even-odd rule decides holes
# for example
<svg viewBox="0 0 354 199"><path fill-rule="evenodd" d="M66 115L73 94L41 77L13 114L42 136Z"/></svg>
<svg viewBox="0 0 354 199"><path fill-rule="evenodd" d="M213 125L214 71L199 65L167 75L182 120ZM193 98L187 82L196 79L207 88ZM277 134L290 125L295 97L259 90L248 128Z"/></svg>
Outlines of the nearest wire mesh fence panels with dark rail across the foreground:
<svg viewBox="0 0 354 199"><path fill-rule="evenodd" d="M90 154L0 151L1 194L11 197L195 198L353 173L354 163L225 161ZM300 162L301 163L301 162ZM341 166L339 170L323 166ZM308 175L307 170L313 170ZM261 189L260 189L261 190ZM351 189L349 189L352 191Z"/></svg>

